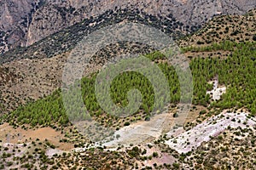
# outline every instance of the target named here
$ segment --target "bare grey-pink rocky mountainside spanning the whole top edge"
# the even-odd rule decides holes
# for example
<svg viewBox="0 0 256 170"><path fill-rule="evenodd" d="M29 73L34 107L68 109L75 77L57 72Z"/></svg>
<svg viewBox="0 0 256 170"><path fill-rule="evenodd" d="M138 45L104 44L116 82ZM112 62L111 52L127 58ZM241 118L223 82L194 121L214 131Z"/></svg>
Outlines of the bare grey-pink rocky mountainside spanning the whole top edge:
<svg viewBox="0 0 256 170"><path fill-rule="evenodd" d="M29 46L67 26L128 8L155 16L172 14L185 26L199 26L216 14L244 14L255 0L4 0L0 3L0 50Z"/></svg>

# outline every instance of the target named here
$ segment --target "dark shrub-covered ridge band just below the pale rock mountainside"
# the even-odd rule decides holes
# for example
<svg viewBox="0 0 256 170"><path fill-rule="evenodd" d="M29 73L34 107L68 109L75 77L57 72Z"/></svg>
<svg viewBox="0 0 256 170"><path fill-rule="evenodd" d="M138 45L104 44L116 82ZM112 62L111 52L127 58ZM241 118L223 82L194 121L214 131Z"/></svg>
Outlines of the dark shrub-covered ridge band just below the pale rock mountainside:
<svg viewBox="0 0 256 170"><path fill-rule="evenodd" d="M126 9L108 10L97 18L91 18L91 20L85 19L39 42L35 42L32 46L10 50L1 56L0 63L9 62L14 59L49 58L55 54L70 51L90 32L96 31L104 26L117 24L123 20L154 26L172 37L182 36L181 30L183 29L183 24L175 20L172 15L168 16L168 18L162 17L162 19L159 19L154 15L140 13L139 11L133 14Z"/></svg>

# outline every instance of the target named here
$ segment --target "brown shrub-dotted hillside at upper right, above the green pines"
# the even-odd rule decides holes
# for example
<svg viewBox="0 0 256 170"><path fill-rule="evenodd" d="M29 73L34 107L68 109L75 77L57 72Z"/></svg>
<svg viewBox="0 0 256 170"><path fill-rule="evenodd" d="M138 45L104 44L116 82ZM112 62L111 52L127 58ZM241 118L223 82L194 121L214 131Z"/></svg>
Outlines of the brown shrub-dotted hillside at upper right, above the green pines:
<svg viewBox="0 0 256 170"><path fill-rule="evenodd" d="M204 47L214 42L256 41L256 9L245 15L218 16L192 36L178 41L180 46Z"/></svg>

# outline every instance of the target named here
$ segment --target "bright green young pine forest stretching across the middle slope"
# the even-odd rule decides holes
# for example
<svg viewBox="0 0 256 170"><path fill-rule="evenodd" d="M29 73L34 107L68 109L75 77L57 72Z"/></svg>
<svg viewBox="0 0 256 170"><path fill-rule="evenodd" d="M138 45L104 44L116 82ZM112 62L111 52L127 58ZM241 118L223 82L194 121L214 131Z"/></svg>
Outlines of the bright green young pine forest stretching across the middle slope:
<svg viewBox="0 0 256 170"><path fill-rule="evenodd" d="M255 42L222 42L202 48L184 48L183 51L214 51L229 50L230 56L221 58L194 58L191 59L190 68L194 81L194 105L211 105L220 109L245 107L256 115L256 43ZM155 52L148 54L149 59L158 63L160 70L165 74L170 86L171 102L177 104L180 99L180 88L178 77L172 65L167 62L159 62L164 55ZM84 105L90 111L90 116L100 116L102 111L97 103L95 94L95 83L97 73L82 79L82 95ZM211 102L207 90L212 89L208 82L218 76L218 83L227 87L227 91L220 100ZM158 80L160 81L160 80ZM148 114L154 107L154 88L147 77L136 71L127 71L119 74L111 83L111 97L114 104L121 107L128 105L127 93L130 89L137 88L143 95L143 104L138 112ZM104 96L104 94L102 94ZM54 94L21 106L9 116L3 117L9 122L30 123L36 125L50 125L57 122L67 125L68 116L63 107L61 90ZM76 104L72 104L76 105ZM78 106L79 107L79 106Z"/></svg>

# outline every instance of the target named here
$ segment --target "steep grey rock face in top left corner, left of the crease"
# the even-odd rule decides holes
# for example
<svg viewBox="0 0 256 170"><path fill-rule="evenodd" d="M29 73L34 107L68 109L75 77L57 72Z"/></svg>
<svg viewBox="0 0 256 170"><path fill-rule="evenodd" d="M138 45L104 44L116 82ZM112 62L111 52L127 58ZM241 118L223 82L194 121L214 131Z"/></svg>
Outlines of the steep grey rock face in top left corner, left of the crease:
<svg viewBox="0 0 256 170"><path fill-rule="evenodd" d="M42 0L3 0L0 2L0 54L26 45L26 33L32 14Z"/></svg>

